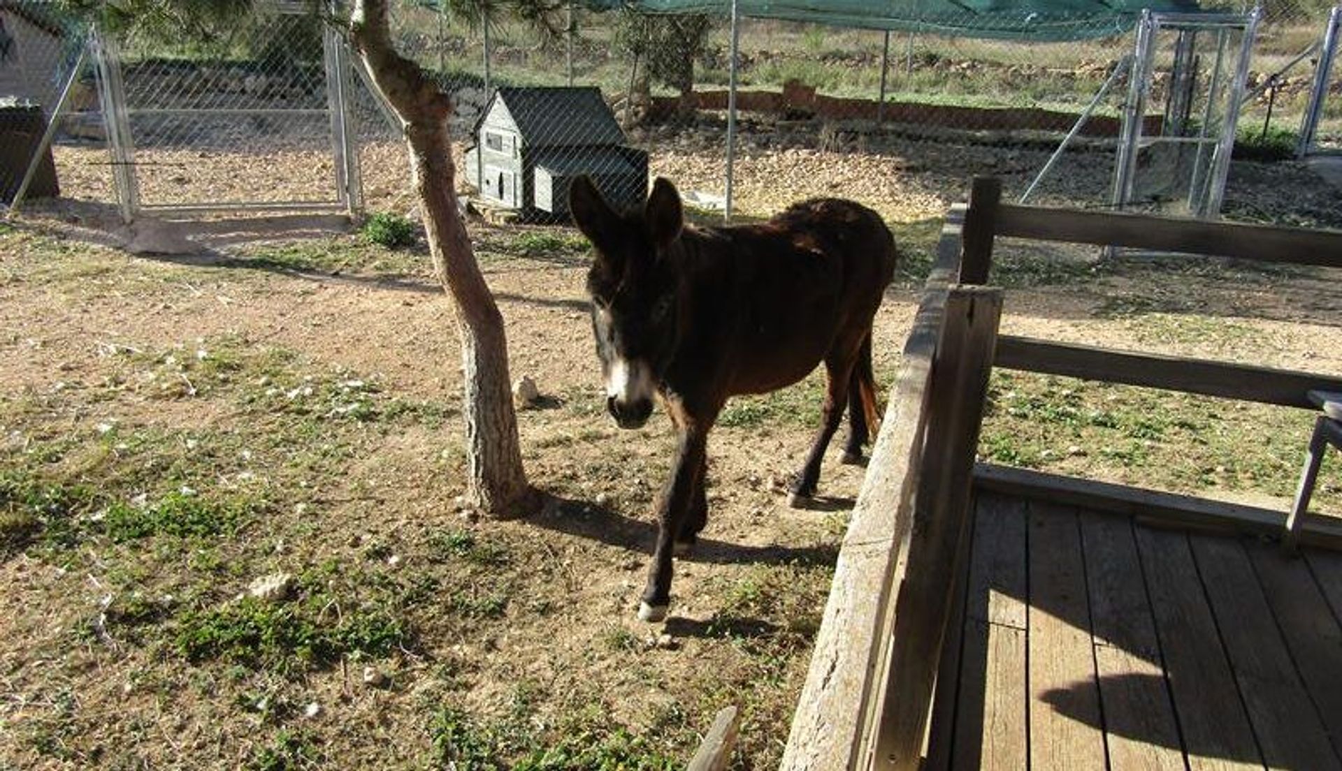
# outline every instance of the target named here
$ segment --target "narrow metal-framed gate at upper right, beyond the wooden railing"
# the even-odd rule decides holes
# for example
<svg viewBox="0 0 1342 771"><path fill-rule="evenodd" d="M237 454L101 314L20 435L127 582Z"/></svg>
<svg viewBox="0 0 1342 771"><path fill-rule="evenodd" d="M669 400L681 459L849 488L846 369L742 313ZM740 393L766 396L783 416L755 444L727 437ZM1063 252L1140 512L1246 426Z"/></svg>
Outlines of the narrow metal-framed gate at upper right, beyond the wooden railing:
<svg viewBox="0 0 1342 771"><path fill-rule="evenodd" d="M1142 13L1114 170L1115 208L1220 213L1257 23L1257 9ZM1158 129L1149 125L1149 111L1159 115Z"/></svg>

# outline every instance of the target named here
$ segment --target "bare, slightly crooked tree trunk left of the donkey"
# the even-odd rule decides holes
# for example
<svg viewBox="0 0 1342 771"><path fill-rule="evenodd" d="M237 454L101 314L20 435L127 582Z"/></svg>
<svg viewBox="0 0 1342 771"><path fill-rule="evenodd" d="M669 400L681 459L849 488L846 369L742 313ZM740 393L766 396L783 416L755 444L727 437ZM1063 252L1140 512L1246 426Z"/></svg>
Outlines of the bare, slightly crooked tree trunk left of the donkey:
<svg viewBox="0 0 1342 771"><path fill-rule="evenodd" d="M350 39L405 126L433 271L454 300L466 378L468 496L493 516L523 515L538 496L522 468L503 315L480 275L456 208L456 169L447 130L451 101L419 64L396 52L386 0L356 0Z"/></svg>

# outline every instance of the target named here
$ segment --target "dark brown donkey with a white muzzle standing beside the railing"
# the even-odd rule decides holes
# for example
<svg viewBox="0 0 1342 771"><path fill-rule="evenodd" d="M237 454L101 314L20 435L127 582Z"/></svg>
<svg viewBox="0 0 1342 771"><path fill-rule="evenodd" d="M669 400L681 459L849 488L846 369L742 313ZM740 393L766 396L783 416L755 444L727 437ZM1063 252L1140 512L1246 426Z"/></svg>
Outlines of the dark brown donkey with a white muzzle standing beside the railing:
<svg viewBox="0 0 1342 771"><path fill-rule="evenodd" d="M672 555L688 555L707 523L705 451L727 397L781 389L824 362L824 418L792 504L815 493L844 405L844 463L862 461L878 420L871 323L894 276L895 243L879 215L832 198L758 225L688 227L664 178L643 209L620 213L578 177L569 211L596 248L586 287L607 409L621 428L639 428L656 394L679 433L639 605L639 618L662 621Z"/></svg>

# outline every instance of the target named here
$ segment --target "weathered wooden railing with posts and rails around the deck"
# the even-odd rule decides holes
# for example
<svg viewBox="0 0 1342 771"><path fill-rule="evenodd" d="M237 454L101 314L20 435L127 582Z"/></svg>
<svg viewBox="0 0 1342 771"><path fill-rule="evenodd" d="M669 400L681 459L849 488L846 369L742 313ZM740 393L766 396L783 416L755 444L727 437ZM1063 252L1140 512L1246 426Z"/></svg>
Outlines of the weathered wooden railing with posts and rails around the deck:
<svg viewBox="0 0 1342 771"><path fill-rule="evenodd" d="M839 554L786 770L919 767L976 485L1200 527L1282 532L1286 512L976 465L992 366L1292 408L1310 406L1310 389L1342 390L1334 375L998 338L1001 294L980 286L1002 236L1342 267L1342 232L1039 209L1000 197L996 180L976 180L968 209L954 208L942 229ZM1342 547L1342 527L1307 519L1300 539Z"/></svg>

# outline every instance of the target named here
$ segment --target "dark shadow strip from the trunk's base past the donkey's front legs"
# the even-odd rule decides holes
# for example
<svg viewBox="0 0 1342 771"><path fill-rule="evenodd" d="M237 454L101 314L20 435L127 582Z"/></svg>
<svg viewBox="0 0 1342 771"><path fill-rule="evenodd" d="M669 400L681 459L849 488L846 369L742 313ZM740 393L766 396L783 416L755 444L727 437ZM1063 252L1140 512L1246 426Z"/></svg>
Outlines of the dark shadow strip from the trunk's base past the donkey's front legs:
<svg viewBox="0 0 1342 771"><path fill-rule="evenodd" d="M550 496L538 514L526 522L545 530L599 540L631 551L650 554L658 538L654 522L631 519L609 508L584 500ZM747 546L701 538L690 562L713 565L833 565L839 558L835 546Z"/></svg>

